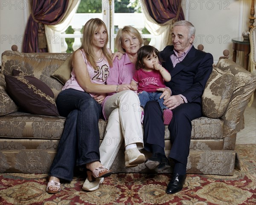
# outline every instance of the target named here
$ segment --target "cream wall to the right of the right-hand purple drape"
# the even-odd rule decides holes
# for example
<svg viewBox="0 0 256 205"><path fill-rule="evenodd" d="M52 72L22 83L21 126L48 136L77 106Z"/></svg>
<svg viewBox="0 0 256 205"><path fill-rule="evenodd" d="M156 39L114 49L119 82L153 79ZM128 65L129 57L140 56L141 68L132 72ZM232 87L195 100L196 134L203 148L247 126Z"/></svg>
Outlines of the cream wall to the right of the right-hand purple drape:
<svg viewBox="0 0 256 205"><path fill-rule="evenodd" d="M183 1L185 18L196 28L195 47L203 44L204 51L213 55L215 63L225 49L230 51L232 59L231 40L249 30L250 6L251 0ZM239 59L238 54L238 63Z"/></svg>

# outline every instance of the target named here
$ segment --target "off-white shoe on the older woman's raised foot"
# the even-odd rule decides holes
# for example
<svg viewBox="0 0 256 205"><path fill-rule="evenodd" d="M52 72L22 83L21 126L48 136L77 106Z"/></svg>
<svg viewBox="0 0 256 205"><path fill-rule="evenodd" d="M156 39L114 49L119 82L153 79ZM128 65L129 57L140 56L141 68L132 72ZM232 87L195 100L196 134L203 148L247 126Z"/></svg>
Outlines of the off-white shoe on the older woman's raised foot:
<svg viewBox="0 0 256 205"><path fill-rule="evenodd" d="M140 153L137 147L125 150L125 167L136 167L145 160L145 155Z"/></svg>

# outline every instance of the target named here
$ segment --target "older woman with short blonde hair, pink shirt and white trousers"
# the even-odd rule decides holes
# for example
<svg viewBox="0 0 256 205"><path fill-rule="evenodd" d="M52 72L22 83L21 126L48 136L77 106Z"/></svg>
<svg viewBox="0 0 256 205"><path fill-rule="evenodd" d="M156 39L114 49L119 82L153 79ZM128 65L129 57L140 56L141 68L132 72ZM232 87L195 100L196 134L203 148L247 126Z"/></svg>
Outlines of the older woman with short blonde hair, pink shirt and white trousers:
<svg viewBox="0 0 256 205"><path fill-rule="evenodd" d="M139 149L143 148L143 132L141 127L140 100L132 91L121 91L122 85L130 84L135 72L137 51L143 44L139 31L132 26L125 26L117 32L115 46L124 54L120 60L116 57L113 68L107 79L108 85L118 85L116 92L109 92L103 101L103 113L108 119L105 137L99 152L101 162L110 168L119 148L124 140L125 143L125 167L135 167L145 162L144 154ZM84 182L83 189L93 191L99 188L103 178Z"/></svg>

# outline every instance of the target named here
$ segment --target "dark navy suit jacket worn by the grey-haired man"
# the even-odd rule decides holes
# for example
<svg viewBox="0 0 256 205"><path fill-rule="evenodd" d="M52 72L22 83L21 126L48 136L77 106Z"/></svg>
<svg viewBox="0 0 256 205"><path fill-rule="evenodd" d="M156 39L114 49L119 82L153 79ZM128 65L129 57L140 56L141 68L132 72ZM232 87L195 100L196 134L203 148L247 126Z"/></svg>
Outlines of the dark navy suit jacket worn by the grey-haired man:
<svg viewBox="0 0 256 205"><path fill-rule="evenodd" d="M201 104L204 87L212 72L212 54L199 51L192 46L183 61L173 68L170 58L174 53L173 48L174 46L166 46L160 52L162 65L172 77L170 82L166 82L166 86L171 88L172 95L182 94L189 103Z"/></svg>

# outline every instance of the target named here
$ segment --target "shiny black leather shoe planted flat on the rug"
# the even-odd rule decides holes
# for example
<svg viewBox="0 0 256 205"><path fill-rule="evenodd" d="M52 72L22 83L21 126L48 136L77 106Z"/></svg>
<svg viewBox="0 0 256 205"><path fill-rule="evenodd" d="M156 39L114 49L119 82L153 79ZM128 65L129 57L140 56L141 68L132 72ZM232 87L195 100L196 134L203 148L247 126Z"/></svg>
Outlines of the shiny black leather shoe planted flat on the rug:
<svg viewBox="0 0 256 205"><path fill-rule="evenodd" d="M166 194L175 194L182 190L185 183L186 174L173 174L171 181L166 189Z"/></svg>

